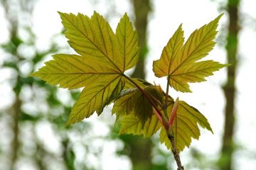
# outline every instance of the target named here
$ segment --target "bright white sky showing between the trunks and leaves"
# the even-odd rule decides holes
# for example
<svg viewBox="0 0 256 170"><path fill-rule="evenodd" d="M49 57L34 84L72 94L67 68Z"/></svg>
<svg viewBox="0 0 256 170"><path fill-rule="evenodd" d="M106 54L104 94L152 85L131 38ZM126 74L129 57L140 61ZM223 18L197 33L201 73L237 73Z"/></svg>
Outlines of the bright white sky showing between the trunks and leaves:
<svg viewBox="0 0 256 170"><path fill-rule="evenodd" d="M219 0L220 1L220 0ZM115 1L118 8L115 10L120 13L120 16L127 11L129 16L132 16L132 7L129 5L129 1ZM107 9L105 4L92 6L89 1L82 0L41 0L36 4L34 18L33 18L33 30L38 36L38 48L46 49L48 47L48 42L50 38L57 33L60 33L60 30L63 28L60 23L60 17L58 16L57 11L61 12L72 12L72 13L85 13L86 15L92 15L92 12L95 10L98 13L106 14ZM164 79L157 79L154 77L151 66L152 61L159 59L161 55L161 50L168 42L171 35L174 33L176 28L178 28L180 23L183 23L183 30L185 33L185 38L188 38L188 35L192 33L193 30L203 26L209 21L213 20L216 16L220 14L218 11L218 5L215 1L206 1L206 0L181 0L181 1L169 1L161 0L154 1L153 11L149 17L149 28L148 28L148 42L149 42L149 58L147 63L147 73L148 80L153 82L156 81L156 84L161 84L165 86ZM256 3L254 0L243 0L241 4L241 13L250 15L256 18L255 11ZM0 12L2 13L1 9ZM0 14L1 14L0 13ZM2 16L2 15L0 15ZM220 23L225 24L227 22L227 14L220 19ZM110 18L110 25L113 30L117 26L119 18ZM1 19L2 21L2 19ZM0 42L4 42L7 36L6 28L3 28L3 25L0 24L0 29L3 30L0 35ZM255 24L254 24L255 25ZM221 26L220 26L221 27ZM219 27L219 28L220 28ZM255 57L255 44L256 44L256 28L254 30L250 26L244 26L240 31L240 47L239 47L239 64L238 64L238 74L237 74L237 99L235 104L235 111L238 114L237 116L237 125L235 127L235 142L241 144L245 150L256 151L256 137L253 134L253 131L256 128L256 114L254 109L254 96L255 92L255 76L256 73L256 57ZM65 41L65 40L64 40ZM63 42L64 43L64 42ZM65 42L66 43L66 42ZM225 62L225 49L220 46L216 46L208 58ZM4 73L1 72L1 76ZM223 91L220 89L220 86L225 83L225 69L220 72L215 72L215 75L208 78L208 81L201 84L191 85L193 94L181 94L176 91L171 91L171 96L176 98L179 96L181 100L187 101L198 108L201 113L206 115L210 125L215 132L212 135L206 130L202 131L202 135L199 141L193 141L192 146L201 148L201 152L206 153L210 156L213 156L219 152L220 149L220 140L223 132L223 111L225 106L225 98L223 96ZM3 83L4 78L0 77L0 106L5 105L7 102L4 97L10 96L11 89ZM95 121L100 118L92 118L88 121ZM107 146L112 147L112 143ZM250 158L246 155L245 150L238 152L235 162L236 169L256 169L255 157ZM127 164L129 167L129 162L123 160L123 158L113 158L109 159L107 157L111 151L105 151L103 157L103 164L105 169L119 169L120 167L116 164L117 159L119 163ZM182 157L186 157L186 152L189 152L189 149L186 149L184 154L181 154ZM112 153L113 154L113 153ZM184 156L183 156L184 155ZM240 157L242 155L242 157ZM250 160L250 161L248 161ZM184 161L186 162L186 160ZM123 166L121 166L123 168Z"/></svg>

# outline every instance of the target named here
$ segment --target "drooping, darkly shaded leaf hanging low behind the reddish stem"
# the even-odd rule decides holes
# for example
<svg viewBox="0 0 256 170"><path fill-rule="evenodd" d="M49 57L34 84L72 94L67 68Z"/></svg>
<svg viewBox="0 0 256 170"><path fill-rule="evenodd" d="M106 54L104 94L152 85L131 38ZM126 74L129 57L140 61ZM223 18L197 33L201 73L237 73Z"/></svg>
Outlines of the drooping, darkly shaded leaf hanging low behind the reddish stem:
<svg viewBox="0 0 256 170"><path fill-rule="evenodd" d="M140 79L139 81L134 79L134 81L140 84L144 91L151 95L154 101L159 101L159 86L154 86ZM156 117L151 103L145 100L144 94L132 84L129 84L128 87L130 89L122 91L122 94L114 102L112 108L112 113L117 115L117 122L120 123L119 134L151 137L161 128L161 123ZM169 99L173 101L172 98Z"/></svg>

